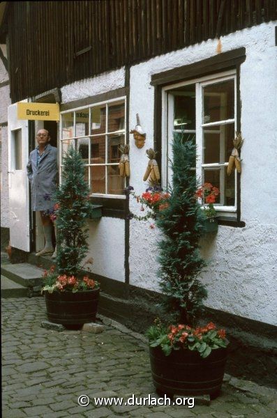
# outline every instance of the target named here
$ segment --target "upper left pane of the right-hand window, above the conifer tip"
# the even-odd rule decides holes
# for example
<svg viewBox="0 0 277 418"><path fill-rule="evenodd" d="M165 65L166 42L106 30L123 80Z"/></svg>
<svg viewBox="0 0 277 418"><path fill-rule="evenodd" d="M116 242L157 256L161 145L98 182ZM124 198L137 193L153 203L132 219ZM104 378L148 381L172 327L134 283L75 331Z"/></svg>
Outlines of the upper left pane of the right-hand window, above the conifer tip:
<svg viewBox="0 0 277 418"><path fill-rule="evenodd" d="M195 84L170 93L174 96L174 130L195 130Z"/></svg>

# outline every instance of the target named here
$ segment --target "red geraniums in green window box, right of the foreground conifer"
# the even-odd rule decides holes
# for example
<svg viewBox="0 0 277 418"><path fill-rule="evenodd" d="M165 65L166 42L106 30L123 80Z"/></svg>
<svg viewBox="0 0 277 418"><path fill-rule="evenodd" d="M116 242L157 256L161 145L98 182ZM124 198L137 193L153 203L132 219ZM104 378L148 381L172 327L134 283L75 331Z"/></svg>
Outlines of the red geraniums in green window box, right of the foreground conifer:
<svg viewBox="0 0 277 418"><path fill-rule="evenodd" d="M195 194L195 196L200 199L204 215L206 216L204 222L206 232L218 231L216 210L214 208L214 203L216 203L218 194L219 189L216 186L213 186L211 183L204 183L204 185L197 189Z"/></svg>

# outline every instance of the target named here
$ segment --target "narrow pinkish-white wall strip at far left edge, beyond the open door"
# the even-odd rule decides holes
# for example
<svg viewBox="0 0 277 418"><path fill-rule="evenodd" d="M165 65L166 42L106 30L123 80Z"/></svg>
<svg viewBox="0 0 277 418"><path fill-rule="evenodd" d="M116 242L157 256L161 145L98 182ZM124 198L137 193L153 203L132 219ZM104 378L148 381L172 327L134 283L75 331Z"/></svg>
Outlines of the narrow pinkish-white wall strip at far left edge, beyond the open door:
<svg viewBox="0 0 277 418"><path fill-rule="evenodd" d="M6 56L6 45L0 45ZM9 228L8 206L8 106L10 105L10 86L2 85L8 82L8 72L0 60L0 123L1 123L1 226Z"/></svg>

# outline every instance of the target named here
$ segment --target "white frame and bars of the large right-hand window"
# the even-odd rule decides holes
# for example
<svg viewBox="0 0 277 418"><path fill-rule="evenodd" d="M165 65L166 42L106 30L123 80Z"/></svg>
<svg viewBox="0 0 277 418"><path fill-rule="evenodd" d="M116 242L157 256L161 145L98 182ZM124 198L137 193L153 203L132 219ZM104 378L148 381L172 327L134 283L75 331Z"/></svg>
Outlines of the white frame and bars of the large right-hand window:
<svg viewBox="0 0 277 418"><path fill-rule="evenodd" d="M228 79L234 80L234 118L229 120L216 121L211 123L202 123L202 111L203 111L203 87L208 86L209 84L215 84L219 82L224 82ZM206 167L227 167L228 163L212 163L204 164L203 163L203 141L204 141L204 128L214 125L226 125L229 123L234 123L234 130L237 130L237 73L235 70L220 72L214 75L209 75L205 77L199 77L197 79L189 79L186 82L179 82L176 84L170 84L165 86L162 89L162 112L163 112L163 121L162 121L162 187L165 189L170 183L170 178L172 178L172 173L170 166L168 164L169 159L172 160L172 150L171 142L173 138L173 102L172 97L168 93L172 88L178 88L183 86L188 86L190 84L195 84L195 134L196 134L196 145L197 145L197 162L196 162L196 177L200 179L202 183L203 171ZM172 97L170 97L172 96ZM185 133L194 132L191 130L183 130ZM220 152L222 148L220 147ZM222 181L222 180L221 180ZM223 182L224 183L224 182ZM223 194L224 197L224 194ZM214 204L214 208L217 212L223 212L224 215L234 216L234 213L237 212L237 170L234 173L234 206L223 206Z"/></svg>

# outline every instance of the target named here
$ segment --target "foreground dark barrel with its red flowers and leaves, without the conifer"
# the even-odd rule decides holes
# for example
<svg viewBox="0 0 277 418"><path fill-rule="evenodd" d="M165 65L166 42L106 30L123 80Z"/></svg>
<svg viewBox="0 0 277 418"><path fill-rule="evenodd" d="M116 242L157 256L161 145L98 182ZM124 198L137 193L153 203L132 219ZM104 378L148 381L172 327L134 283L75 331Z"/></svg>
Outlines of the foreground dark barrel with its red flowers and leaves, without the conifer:
<svg viewBox="0 0 277 418"><path fill-rule="evenodd" d="M214 323L202 327L160 320L149 327L151 371L156 390L167 395L217 396L223 382L227 339Z"/></svg>

